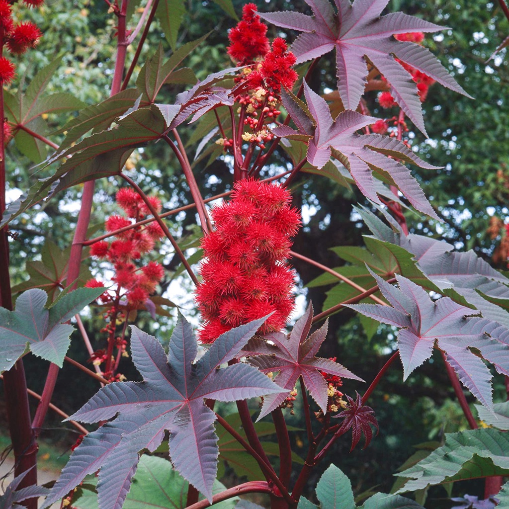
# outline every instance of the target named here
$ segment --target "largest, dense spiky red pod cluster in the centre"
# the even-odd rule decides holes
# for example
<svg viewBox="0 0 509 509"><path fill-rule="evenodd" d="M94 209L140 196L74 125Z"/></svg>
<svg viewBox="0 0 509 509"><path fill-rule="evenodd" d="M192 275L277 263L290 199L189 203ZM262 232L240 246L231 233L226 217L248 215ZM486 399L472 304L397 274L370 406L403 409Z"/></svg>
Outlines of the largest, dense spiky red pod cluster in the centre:
<svg viewBox="0 0 509 509"><path fill-rule="evenodd" d="M290 207L290 193L247 179L234 185L232 197L212 210L216 230L202 241L206 259L196 302L205 320L203 343L271 312L259 333L280 330L294 307L294 275L285 260L300 215Z"/></svg>

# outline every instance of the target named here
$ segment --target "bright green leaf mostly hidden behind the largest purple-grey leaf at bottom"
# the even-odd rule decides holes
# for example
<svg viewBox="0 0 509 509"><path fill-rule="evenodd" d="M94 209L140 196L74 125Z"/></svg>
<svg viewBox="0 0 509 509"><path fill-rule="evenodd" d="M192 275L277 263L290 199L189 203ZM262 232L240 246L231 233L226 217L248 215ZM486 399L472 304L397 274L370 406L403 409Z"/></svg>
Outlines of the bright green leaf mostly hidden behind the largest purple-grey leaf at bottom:
<svg viewBox="0 0 509 509"><path fill-rule="evenodd" d="M131 489L127 494L123 509L184 509L188 482L173 470L172 464L163 458L143 455L138 463ZM218 480L214 482L212 493L220 493L226 488ZM200 496L203 500L203 496ZM214 507L233 509L239 498L225 500ZM97 493L83 489L81 495L73 502L78 509L97 509Z"/></svg>

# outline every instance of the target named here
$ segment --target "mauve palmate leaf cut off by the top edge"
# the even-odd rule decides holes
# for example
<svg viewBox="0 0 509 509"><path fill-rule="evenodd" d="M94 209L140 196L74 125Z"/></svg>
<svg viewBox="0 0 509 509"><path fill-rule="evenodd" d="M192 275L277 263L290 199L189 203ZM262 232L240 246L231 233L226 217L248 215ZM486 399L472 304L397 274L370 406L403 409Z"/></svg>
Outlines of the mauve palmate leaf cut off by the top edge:
<svg viewBox="0 0 509 509"><path fill-rule="evenodd" d="M402 12L380 17L389 0L305 0L314 16L299 12L260 13L277 26L303 32L292 44L297 64L336 50L337 86L347 109L356 109L364 92L367 63L390 83L390 92L405 114L426 134L416 84L395 58L468 96L435 56L422 46L396 40L394 34L437 32L444 27Z"/></svg>

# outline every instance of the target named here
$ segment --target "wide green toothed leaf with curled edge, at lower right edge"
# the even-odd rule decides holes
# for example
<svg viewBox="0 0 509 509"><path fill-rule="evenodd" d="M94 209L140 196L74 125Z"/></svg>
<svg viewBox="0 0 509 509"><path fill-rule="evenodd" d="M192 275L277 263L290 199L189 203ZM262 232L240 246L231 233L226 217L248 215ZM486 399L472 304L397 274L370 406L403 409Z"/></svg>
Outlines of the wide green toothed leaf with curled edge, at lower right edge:
<svg viewBox="0 0 509 509"><path fill-rule="evenodd" d="M446 433L442 447L395 475L411 479L397 493L456 480L509 475L509 436L493 428Z"/></svg>

